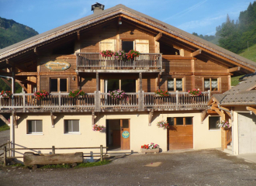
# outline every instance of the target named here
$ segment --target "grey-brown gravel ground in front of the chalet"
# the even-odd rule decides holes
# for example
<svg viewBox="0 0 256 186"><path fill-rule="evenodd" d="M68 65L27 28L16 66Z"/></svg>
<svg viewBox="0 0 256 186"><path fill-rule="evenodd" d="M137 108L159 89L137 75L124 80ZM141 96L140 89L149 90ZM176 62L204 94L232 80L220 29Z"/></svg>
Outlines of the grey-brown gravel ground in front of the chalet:
<svg viewBox="0 0 256 186"><path fill-rule="evenodd" d="M0 185L256 185L256 164L220 150L133 154L100 167L0 167Z"/></svg>

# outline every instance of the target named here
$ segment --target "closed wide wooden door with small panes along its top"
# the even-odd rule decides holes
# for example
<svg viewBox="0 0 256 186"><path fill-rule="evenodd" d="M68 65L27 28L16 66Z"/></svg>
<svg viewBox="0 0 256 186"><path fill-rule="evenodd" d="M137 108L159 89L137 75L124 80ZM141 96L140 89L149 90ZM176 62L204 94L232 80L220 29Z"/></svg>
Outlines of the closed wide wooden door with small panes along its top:
<svg viewBox="0 0 256 186"><path fill-rule="evenodd" d="M192 117L168 118L168 122L168 150L193 148Z"/></svg>

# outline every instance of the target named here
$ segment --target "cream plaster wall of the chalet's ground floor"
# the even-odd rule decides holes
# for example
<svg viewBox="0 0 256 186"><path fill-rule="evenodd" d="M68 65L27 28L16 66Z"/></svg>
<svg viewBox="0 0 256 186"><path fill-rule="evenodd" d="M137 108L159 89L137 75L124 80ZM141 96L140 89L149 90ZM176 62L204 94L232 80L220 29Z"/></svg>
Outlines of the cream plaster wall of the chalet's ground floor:
<svg viewBox="0 0 256 186"><path fill-rule="evenodd" d="M57 115L57 118L54 119L54 128L52 128L50 115L19 114L18 128L15 128L16 148L106 146L106 133L92 131L92 115L90 113L56 113L55 115ZM140 146L148 143L157 143L162 151L167 150L167 130L157 128L157 122L162 119L165 120L167 117L193 117L193 143L195 150L216 148L221 145L220 130L209 131L208 117L201 123L201 112L154 112L150 126L148 124L148 112L139 112L138 116L136 114L131 115L130 112L106 112L95 116L95 123L103 126L106 126L106 119L130 119L130 150L134 152L140 152ZM43 134L27 134L26 121L28 119L42 119ZM65 134L64 119L79 119L80 133ZM51 152L51 150L40 151L41 153ZM56 153L71 153L71 151L90 153L92 150L56 150ZM93 151L95 153L99 152L99 150ZM16 156L22 156L22 154L16 153Z"/></svg>

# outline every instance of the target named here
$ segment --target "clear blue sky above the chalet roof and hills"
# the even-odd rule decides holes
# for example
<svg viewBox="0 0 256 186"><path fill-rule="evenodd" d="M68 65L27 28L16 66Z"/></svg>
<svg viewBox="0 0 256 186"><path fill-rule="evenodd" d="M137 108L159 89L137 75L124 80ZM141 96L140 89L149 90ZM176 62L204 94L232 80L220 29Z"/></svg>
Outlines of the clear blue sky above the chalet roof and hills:
<svg viewBox="0 0 256 186"><path fill-rule="evenodd" d="M44 33L91 15L95 2L105 9L123 4L188 33L213 35L227 14L237 20L254 0L0 0L0 17L13 19Z"/></svg>

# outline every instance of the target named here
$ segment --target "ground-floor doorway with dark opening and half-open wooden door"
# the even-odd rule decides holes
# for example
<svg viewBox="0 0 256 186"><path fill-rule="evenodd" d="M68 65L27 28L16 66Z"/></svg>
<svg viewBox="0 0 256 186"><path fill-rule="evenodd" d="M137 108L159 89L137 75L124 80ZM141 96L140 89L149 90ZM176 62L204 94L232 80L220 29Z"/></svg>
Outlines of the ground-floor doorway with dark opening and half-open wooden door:
<svg viewBox="0 0 256 186"><path fill-rule="evenodd" d="M106 119L109 150L130 150L130 119Z"/></svg>

